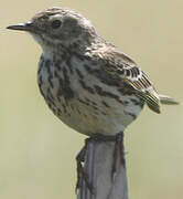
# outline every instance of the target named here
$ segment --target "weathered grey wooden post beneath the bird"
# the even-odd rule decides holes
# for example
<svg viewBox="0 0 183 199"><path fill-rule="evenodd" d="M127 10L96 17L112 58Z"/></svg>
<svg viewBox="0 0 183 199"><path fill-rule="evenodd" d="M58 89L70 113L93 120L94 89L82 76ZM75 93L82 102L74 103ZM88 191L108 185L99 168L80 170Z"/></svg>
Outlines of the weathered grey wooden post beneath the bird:
<svg viewBox="0 0 183 199"><path fill-rule="evenodd" d="M88 175L88 181L94 187L94 192L88 190L83 180L77 199L128 199L126 165L121 164L119 155L117 156L115 176L112 177L111 174L114 150L115 140L97 142L90 139L88 142L84 168Z"/></svg>

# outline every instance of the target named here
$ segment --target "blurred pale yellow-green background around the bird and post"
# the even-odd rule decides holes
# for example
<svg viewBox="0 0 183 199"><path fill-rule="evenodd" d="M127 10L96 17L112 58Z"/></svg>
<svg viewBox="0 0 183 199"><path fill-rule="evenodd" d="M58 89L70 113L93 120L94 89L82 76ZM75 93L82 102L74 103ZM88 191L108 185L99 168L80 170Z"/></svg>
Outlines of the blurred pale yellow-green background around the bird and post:
<svg viewBox="0 0 183 199"><path fill-rule="evenodd" d="M85 136L62 124L36 85L41 49L4 28L53 6L89 18L131 55L160 93L182 101L183 1L15 0L0 7L0 199L76 198L75 156ZM183 198L183 107L147 107L126 130L130 199Z"/></svg>

